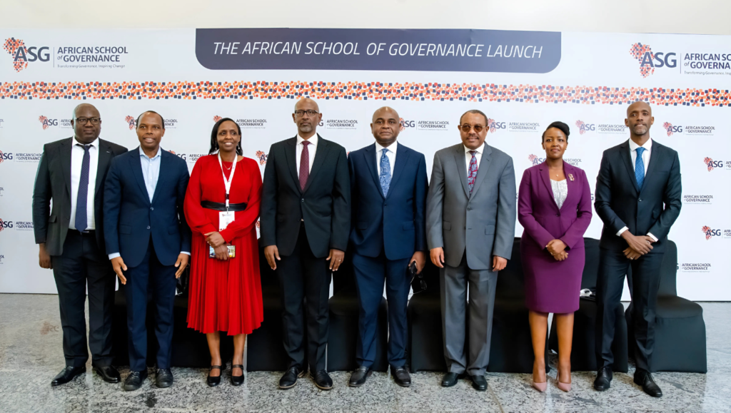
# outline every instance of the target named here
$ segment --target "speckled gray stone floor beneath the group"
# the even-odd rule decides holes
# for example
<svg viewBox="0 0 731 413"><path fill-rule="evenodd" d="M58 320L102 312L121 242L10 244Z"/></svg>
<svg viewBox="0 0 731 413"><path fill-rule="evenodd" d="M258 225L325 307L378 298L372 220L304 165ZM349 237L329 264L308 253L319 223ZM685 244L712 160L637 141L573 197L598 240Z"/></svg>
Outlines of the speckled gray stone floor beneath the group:
<svg viewBox="0 0 731 413"><path fill-rule="evenodd" d="M142 389L124 392L121 384L91 374L91 363L85 376L52 388L50 380L64 367L58 298L0 295L0 412L731 412L731 303L702 306L708 374L655 374L660 399L642 393L626 374L597 393L593 372L575 372L571 392L563 393L555 369L545 394L532 389L530 374L488 374L489 389L479 393L466 380L442 388L437 373L413 374L409 388L376 373L363 387L349 388L349 373L335 372L335 388L323 392L309 379L278 390L276 372L247 374L242 387L224 382L210 388L207 372L192 368L173 368L175 384L168 389L147 380Z"/></svg>

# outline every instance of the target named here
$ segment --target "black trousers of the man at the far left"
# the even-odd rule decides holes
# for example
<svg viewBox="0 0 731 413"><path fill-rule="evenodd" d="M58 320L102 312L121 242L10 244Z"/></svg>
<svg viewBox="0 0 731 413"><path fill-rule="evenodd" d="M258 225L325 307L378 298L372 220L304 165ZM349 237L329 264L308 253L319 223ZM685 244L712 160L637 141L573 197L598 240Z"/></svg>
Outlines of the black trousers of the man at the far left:
<svg viewBox="0 0 731 413"><path fill-rule="evenodd" d="M64 253L51 257L58 289L66 365L86 365L86 316L88 287L91 361L97 367L112 363L112 306L116 276L109 259L99 250L94 231L69 230Z"/></svg>

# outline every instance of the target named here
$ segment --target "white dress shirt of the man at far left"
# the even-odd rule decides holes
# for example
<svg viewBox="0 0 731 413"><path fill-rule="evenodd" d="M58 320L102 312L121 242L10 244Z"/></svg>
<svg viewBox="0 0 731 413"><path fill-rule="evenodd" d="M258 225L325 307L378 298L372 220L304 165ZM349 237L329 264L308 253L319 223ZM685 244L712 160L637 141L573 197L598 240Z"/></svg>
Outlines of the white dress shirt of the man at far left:
<svg viewBox="0 0 731 413"><path fill-rule="evenodd" d="M81 179L81 163L84 159L84 148L77 140L72 140L71 147L71 219L69 219L69 230L76 230L76 203L79 193L79 181ZM96 170L99 167L99 138L90 144L89 148L89 181L86 190L86 228L83 230L95 230L94 220L94 190L96 189Z"/></svg>

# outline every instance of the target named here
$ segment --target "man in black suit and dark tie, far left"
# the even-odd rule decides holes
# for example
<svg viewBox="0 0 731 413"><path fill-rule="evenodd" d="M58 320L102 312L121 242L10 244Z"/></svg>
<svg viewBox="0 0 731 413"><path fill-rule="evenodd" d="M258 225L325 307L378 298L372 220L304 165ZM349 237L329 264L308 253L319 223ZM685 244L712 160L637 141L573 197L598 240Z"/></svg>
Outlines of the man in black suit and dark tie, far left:
<svg viewBox="0 0 731 413"><path fill-rule="evenodd" d="M102 118L96 107L74 109L74 137L43 146L33 189L33 229L39 265L53 269L64 330L66 368L51 382L58 386L86 371L88 287L91 364L106 382L119 382L112 367L114 271L105 255L102 197L112 158L127 149L99 139ZM53 210L50 208L53 200Z"/></svg>

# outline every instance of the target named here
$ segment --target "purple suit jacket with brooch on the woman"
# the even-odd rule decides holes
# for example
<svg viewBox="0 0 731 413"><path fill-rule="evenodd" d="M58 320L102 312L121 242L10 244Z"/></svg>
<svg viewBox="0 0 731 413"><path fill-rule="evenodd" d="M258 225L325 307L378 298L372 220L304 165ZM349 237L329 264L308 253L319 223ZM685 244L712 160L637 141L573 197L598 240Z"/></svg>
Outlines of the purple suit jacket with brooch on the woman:
<svg viewBox="0 0 731 413"><path fill-rule="evenodd" d="M520 246L539 254L550 240L562 240L569 249L584 248L584 232L591 223L591 189L586 173L564 162L568 194L561 208L553 199L553 189L545 162L523 173L518 193L518 221L523 225ZM583 254L580 253L580 254Z"/></svg>

